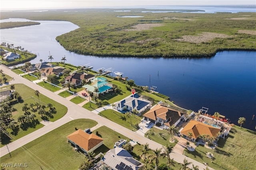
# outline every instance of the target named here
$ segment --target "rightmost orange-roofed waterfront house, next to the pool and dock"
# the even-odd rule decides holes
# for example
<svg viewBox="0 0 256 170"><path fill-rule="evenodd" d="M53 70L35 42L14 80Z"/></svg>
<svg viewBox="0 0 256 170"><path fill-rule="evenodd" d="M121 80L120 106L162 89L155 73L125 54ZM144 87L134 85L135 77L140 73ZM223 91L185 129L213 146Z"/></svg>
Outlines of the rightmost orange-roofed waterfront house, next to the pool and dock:
<svg viewBox="0 0 256 170"><path fill-rule="evenodd" d="M192 133L192 141L196 141L200 135L207 134L210 137L218 137L218 133L221 131L220 128L213 127L211 125L202 123L196 120L190 120L188 124L181 128L178 132L179 135L188 139L188 133Z"/></svg>

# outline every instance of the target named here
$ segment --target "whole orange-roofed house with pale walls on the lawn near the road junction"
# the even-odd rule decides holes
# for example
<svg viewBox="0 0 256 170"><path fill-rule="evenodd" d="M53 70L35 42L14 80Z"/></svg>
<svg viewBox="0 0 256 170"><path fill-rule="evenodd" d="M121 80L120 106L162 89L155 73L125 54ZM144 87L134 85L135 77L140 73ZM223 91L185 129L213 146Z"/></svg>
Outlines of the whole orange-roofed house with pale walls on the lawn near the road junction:
<svg viewBox="0 0 256 170"><path fill-rule="evenodd" d="M77 149L82 150L85 154L90 153L100 147L104 141L104 139L98 137L94 133L89 135L81 129L71 133L66 138L68 138L69 143L74 145Z"/></svg>

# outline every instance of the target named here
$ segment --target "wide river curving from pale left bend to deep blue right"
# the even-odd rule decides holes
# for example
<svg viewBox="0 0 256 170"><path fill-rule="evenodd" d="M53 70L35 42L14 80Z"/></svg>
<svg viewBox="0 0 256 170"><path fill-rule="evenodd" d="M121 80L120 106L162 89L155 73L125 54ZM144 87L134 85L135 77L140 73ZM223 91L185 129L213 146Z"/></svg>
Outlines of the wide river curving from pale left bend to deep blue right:
<svg viewBox="0 0 256 170"><path fill-rule="evenodd" d="M203 59L78 55L66 51L55 40L56 36L77 29L77 25L67 21L38 22L41 24L1 29L0 42L13 43L37 54L31 63L49 61L50 52L53 61L60 62L66 56L66 63L90 63L93 70L113 68L140 86L155 86L155 91L169 96L180 107L194 111L208 107L208 113L218 111L236 125L239 117L245 117L243 127L255 131L256 120L252 120L252 115L256 115L256 51L223 51Z"/></svg>

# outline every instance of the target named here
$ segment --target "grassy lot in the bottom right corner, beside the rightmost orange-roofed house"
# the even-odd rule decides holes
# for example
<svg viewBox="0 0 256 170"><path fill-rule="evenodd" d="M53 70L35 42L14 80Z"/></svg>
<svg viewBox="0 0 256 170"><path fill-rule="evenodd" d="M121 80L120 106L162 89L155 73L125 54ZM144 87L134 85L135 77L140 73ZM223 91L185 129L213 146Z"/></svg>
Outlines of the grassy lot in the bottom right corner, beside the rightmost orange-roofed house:
<svg viewBox="0 0 256 170"><path fill-rule="evenodd" d="M213 162L206 153L213 153L214 150L206 147L196 147L194 152L186 150L185 154L198 162L207 162L209 167L216 170L251 170L255 169L255 141L256 132L235 125L225 139L219 139Z"/></svg>

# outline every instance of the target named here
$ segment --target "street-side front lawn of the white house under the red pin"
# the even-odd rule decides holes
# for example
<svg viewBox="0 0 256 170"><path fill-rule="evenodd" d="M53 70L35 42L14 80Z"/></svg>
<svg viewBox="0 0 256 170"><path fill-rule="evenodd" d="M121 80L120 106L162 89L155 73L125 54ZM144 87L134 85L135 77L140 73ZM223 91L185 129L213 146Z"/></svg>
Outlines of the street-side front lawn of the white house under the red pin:
<svg viewBox="0 0 256 170"><path fill-rule="evenodd" d="M141 122L141 117L132 114L131 117L125 117L124 113L119 113L117 111L112 111L112 109L107 109L104 111L101 111L98 115L102 115L102 117L105 117L123 127L126 127L127 129L130 129L132 131L136 131L136 124L139 124ZM132 119L132 125L131 125L131 119Z"/></svg>

